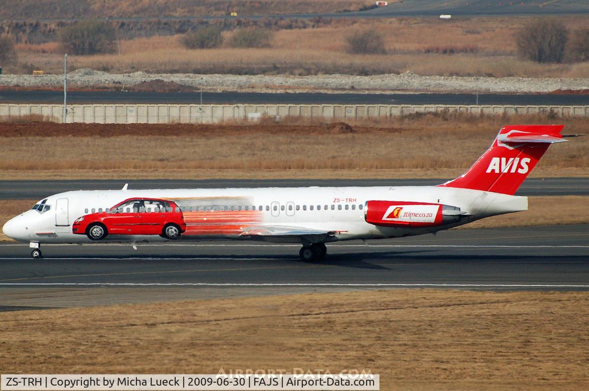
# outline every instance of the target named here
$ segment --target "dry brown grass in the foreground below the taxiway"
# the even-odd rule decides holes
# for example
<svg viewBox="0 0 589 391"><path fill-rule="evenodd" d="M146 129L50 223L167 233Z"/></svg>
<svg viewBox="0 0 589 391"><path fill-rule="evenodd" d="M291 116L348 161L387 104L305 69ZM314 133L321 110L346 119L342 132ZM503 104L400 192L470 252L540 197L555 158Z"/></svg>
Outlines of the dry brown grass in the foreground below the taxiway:
<svg viewBox="0 0 589 391"><path fill-rule="evenodd" d="M392 290L0 313L6 373L370 370L383 390L589 387L585 292Z"/></svg>

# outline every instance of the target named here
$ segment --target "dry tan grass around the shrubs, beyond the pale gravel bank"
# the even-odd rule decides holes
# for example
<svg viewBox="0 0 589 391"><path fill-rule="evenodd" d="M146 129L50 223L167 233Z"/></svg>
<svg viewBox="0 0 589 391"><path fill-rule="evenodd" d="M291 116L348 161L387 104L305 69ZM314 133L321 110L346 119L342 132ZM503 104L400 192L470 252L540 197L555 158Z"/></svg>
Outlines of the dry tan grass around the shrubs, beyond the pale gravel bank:
<svg viewBox="0 0 589 391"><path fill-rule="evenodd" d="M276 31L273 47L259 49L221 47L191 51L179 44L178 36L137 38L121 41L120 55L72 56L70 64L71 68L111 72L306 75L412 71L422 75L589 77L587 62L536 64L518 59L513 34L517 26L528 19L342 19L320 28ZM586 22L581 16L567 16L561 20L570 29L581 28ZM354 29L369 27L382 32L389 54L347 54L345 36ZM230 34L225 33L226 36ZM464 51L465 48L467 52L461 54L435 53L443 49ZM59 73L63 58L55 50L50 44L18 46L22 64L34 64L35 68ZM11 71L11 68L8 70Z"/></svg>

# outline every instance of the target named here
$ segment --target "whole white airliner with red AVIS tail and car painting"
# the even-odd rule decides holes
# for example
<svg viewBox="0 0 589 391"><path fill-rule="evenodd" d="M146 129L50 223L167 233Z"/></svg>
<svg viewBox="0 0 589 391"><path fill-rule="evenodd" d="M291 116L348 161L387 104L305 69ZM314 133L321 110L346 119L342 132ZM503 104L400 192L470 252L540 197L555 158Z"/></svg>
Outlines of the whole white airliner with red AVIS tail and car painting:
<svg viewBox="0 0 589 391"><path fill-rule="evenodd" d="M437 186L67 191L39 201L2 230L29 242L147 243L213 238L300 243L303 260L325 243L433 233L524 211L514 196L563 125L510 125L460 177Z"/></svg>

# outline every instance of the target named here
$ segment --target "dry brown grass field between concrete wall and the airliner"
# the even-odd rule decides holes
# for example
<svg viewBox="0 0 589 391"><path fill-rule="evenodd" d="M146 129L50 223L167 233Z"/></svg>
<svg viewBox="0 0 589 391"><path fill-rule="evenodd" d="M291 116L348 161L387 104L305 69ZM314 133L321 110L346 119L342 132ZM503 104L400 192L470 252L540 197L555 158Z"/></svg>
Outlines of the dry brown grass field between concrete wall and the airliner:
<svg viewBox="0 0 589 391"><path fill-rule="evenodd" d="M333 132L329 125L319 123L4 124L0 128L0 135L4 135L0 138L0 170L62 170L64 177L68 170L178 169L307 170L309 175L313 170L448 169L459 174L488 148L502 125L556 121L566 125L566 133L582 134L588 120L424 115L382 121L379 127L356 125L353 133ZM370 121L366 124L370 125ZM41 157L28 158L38 156L38 145L44 145ZM589 137L555 145L538 167L558 168L560 175L567 175L567 168L586 169L588 148Z"/></svg>

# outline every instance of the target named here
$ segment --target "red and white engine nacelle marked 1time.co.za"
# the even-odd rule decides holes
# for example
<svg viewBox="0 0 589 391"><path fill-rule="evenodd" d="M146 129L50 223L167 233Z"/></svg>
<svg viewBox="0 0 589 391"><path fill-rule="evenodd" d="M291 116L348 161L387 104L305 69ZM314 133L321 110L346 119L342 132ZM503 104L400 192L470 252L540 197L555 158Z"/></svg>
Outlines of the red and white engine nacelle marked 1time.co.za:
<svg viewBox="0 0 589 391"><path fill-rule="evenodd" d="M383 227L441 226L465 213L455 206L412 201L367 201L364 208L366 223Z"/></svg>

